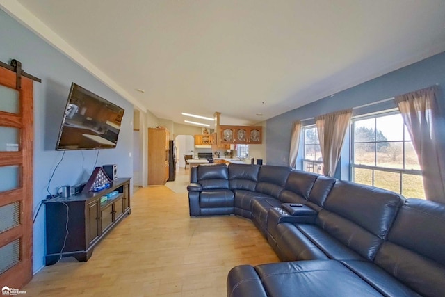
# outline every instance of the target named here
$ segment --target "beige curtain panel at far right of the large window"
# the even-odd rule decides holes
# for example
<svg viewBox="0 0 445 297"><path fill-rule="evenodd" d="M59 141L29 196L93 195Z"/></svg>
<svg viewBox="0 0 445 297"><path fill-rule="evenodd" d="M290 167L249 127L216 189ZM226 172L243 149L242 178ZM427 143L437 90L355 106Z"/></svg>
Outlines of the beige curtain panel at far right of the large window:
<svg viewBox="0 0 445 297"><path fill-rule="evenodd" d="M444 116L440 115L436 87L395 97L422 170L428 200L445 202ZM442 136L441 136L442 134Z"/></svg>

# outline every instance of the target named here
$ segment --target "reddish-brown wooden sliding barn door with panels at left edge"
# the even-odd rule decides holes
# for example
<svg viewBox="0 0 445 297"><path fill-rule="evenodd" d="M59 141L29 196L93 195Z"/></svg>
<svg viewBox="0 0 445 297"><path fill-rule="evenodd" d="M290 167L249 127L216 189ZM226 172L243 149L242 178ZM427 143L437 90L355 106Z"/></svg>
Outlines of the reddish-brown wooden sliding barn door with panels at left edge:
<svg viewBox="0 0 445 297"><path fill-rule="evenodd" d="M33 81L0 65L1 288L32 278L32 213Z"/></svg>

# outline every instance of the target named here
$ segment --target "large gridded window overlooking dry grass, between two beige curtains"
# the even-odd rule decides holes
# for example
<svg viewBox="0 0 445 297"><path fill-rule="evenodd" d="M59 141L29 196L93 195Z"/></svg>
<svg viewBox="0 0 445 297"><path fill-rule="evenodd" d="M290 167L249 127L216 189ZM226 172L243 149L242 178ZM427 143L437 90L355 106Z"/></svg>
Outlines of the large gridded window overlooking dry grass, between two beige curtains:
<svg viewBox="0 0 445 297"><path fill-rule="evenodd" d="M354 118L351 134L353 182L425 198L417 154L400 113Z"/></svg>

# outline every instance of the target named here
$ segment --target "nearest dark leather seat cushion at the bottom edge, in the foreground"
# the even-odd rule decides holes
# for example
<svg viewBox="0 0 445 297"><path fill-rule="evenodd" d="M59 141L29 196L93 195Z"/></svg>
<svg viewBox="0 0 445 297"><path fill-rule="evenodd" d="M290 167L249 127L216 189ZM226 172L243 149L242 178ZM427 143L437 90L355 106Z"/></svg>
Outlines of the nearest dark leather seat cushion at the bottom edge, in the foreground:
<svg viewBox="0 0 445 297"><path fill-rule="evenodd" d="M255 267L268 296L381 296L343 264L313 260Z"/></svg>

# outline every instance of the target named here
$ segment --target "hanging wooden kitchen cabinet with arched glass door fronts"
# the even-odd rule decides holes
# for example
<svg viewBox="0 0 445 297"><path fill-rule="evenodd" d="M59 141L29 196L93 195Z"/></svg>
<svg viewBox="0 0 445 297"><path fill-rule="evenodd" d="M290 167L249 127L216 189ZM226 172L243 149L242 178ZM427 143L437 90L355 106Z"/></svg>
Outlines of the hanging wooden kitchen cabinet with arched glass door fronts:
<svg viewBox="0 0 445 297"><path fill-rule="evenodd" d="M220 126L220 143L229 144L261 144L262 143L261 126Z"/></svg>

